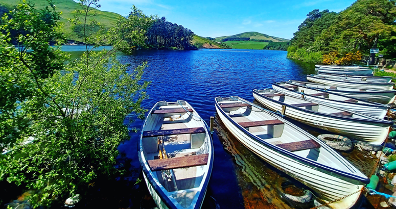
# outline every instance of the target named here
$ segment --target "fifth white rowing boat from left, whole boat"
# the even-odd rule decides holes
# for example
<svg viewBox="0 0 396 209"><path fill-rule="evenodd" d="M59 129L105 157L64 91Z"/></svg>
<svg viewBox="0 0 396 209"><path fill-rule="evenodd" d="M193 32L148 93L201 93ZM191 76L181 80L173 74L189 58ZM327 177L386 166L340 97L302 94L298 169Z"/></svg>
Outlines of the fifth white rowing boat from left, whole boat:
<svg viewBox="0 0 396 209"><path fill-rule="evenodd" d="M302 82L302 81L288 81L294 85L303 85L310 88L322 89L329 92L334 92L337 94L350 96L357 99L363 99L366 101L373 101L382 104L393 103L396 97L396 91L377 91L370 89L359 89L359 88L349 88L342 86L331 86L312 82Z"/></svg>

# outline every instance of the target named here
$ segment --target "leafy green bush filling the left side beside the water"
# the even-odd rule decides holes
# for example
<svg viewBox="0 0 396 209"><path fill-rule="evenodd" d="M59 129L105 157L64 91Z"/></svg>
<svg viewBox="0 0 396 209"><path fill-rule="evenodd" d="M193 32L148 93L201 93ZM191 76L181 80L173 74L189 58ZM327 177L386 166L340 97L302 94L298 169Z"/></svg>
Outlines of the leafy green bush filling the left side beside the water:
<svg viewBox="0 0 396 209"><path fill-rule="evenodd" d="M78 13L85 19L99 4L82 0L80 6ZM27 198L34 207L50 207L76 194L84 197L97 178L122 172L114 168L117 147L128 139L124 118L131 112L144 117L141 102L149 83L141 79L146 63L131 71L114 50L87 49L80 59L64 64L65 54L49 47L51 40L64 41L52 3L43 10L24 3L12 15L1 25L7 35L0 39L0 139L1 148L11 151L0 155L0 180L33 191ZM144 42L141 29L150 21L120 18L116 27L101 27L91 37L84 33L83 39L95 45L106 39L128 51L129 43ZM95 20L73 22L100 25ZM24 44L21 51L9 43L7 32L15 29L27 32L15 37Z"/></svg>

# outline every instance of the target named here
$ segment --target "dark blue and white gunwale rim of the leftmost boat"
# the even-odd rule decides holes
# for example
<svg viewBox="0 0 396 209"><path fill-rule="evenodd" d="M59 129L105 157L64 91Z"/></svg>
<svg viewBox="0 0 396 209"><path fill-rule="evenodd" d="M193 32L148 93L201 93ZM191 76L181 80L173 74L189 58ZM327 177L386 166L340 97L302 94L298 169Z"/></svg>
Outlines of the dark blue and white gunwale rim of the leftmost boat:
<svg viewBox="0 0 396 209"><path fill-rule="evenodd" d="M193 110L193 112L197 113L195 111L195 109L190 105L189 102L187 102L185 100L177 100L177 101L184 101L185 103L188 103L188 106L190 106L190 108ZM172 202L172 200L162 190L162 188L164 188L164 187L159 186L158 184L156 184L156 182L154 180L154 177L153 177L153 172L150 170L150 168L147 168L148 167L148 163L147 163L146 157L144 156L143 150L140 149L141 147L143 147L143 145L141 145L141 143L142 143L142 139L143 139L143 130L145 128L146 122L147 122L149 116L151 115L151 113L153 112L154 108L156 108L158 103L160 103L160 102L167 102L167 101L162 100L162 101L156 102L155 105L148 112L148 114L146 116L146 119L145 119L145 121L142 124L141 134L140 134L139 143L138 143L138 146L139 146L138 158L139 158L139 163L141 164L141 168L142 168L143 172L146 174L146 177L147 177L147 179L149 181L148 184L150 184L154 188L154 191L158 194L158 196L160 197L161 201L164 202L165 205L168 208L170 208L170 209L178 209L178 207L176 207L176 205ZM202 188L205 188L205 189L200 191L200 193L198 195L198 198L197 198L197 201L196 201L196 204L194 206L194 209L201 208L201 205L203 203L203 199L204 199L204 197L206 195L207 185L209 183L209 179L211 178L212 170L213 170L213 158L214 158L213 141L212 141L212 137L211 137L211 134L210 134L211 132L208 130L206 125L204 125L204 128L205 128L205 134L208 135L209 143L211 144L211 147L209 147L209 151L211 151L211 154L209 154L209 158L210 159L208 159L209 165L208 165L208 169L207 169L207 175L206 175L206 178L204 179L204 182L202 184ZM192 188L192 189L194 189L194 188ZM164 188L164 190L165 190L165 188ZM182 190L179 190L179 191L182 191ZM197 204L198 202L200 202L200 204Z"/></svg>

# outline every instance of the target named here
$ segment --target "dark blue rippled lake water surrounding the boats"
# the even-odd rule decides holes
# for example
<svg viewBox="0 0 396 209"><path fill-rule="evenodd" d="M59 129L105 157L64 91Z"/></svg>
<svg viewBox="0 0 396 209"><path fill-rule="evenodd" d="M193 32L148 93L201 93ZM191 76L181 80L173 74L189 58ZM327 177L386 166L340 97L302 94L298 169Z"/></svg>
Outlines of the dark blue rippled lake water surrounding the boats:
<svg viewBox="0 0 396 209"><path fill-rule="evenodd" d="M147 89L150 98L143 102L146 109L161 100L187 100L209 123L209 118L216 116L217 96L235 95L253 101L253 89L271 88L273 82L306 81L306 75L314 73L313 65L287 59L286 54L286 51L246 49L148 50L119 58L131 64L130 70L148 62L143 80L152 83ZM215 208L214 198L221 208L293 208L276 193L276 180L285 174L252 154L215 118L214 167L205 207ZM141 127L143 123L133 117L127 120L135 120L133 127ZM300 126L314 135L320 134L318 130ZM137 133L131 133L131 139L119 147L133 159L136 169L139 168L138 138ZM362 163L361 154L356 152L344 155L362 170L370 170L374 164L373 161ZM152 206L153 202L147 208Z"/></svg>

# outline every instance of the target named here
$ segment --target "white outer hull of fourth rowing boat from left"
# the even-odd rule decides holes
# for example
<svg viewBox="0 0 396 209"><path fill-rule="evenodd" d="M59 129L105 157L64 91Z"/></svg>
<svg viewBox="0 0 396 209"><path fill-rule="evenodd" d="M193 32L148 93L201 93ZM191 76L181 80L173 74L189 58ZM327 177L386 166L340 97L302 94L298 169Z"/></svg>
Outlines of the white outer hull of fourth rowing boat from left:
<svg viewBox="0 0 396 209"><path fill-rule="evenodd" d="M369 102L359 101L358 103L354 102L345 102L344 100L352 99L351 97L337 95L336 93L332 93L327 91L326 93L330 94L330 98L323 98L321 96L310 96L310 94L321 93L319 90L310 90L308 88L299 87L300 89L305 89L304 96L307 100L314 101L317 103L322 103L324 105L331 105L337 108L343 108L350 111L355 111L358 113L370 115L372 117L376 117L379 119L384 119L388 107L384 105L375 105L375 103L370 104ZM282 92L286 95L300 97L301 93L297 91L292 91L291 89L282 88L281 85L272 84L272 89L275 91ZM333 99L334 98L334 99Z"/></svg>

